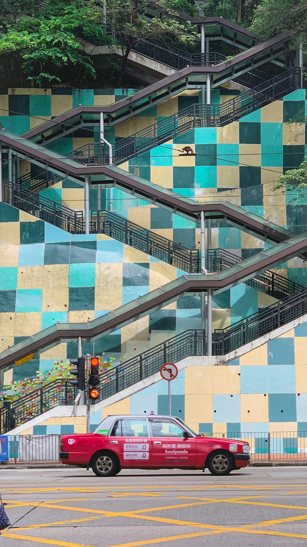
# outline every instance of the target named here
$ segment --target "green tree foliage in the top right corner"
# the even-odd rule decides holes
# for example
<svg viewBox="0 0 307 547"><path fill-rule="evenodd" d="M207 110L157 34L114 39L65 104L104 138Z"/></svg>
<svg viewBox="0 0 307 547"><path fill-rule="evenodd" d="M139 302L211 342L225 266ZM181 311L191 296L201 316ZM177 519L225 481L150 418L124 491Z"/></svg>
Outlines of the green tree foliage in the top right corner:
<svg viewBox="0 0 307 547"><path fill-rule="evenodd" d="M307 43L307 2L260 0L250 28L262 39L287 31L292 36L293 45L301 41Z"/></svg>

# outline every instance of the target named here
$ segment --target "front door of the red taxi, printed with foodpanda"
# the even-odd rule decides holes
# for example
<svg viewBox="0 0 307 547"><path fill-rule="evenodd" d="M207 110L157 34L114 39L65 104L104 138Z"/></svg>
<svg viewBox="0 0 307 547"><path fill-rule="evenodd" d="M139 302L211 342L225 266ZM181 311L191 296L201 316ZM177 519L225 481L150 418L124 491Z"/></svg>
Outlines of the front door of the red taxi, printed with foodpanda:
<svg viewBox="0 0 307 547"><path fill-rule="evenodd" d="M152 440L152 465L193 467L197 459L196 439L182 437L185 431L172 418L149 418Z"/></svg>

